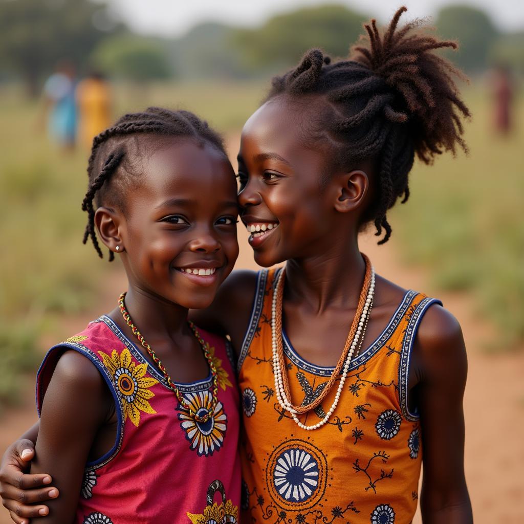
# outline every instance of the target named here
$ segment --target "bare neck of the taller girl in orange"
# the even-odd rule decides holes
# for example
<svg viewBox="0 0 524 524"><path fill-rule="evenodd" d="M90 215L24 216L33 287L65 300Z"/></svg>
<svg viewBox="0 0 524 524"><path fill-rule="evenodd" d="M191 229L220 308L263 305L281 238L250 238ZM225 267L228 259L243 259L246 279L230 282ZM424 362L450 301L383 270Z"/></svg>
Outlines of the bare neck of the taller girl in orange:
<svg viewBox="0 0 524 524"><path fill-rule="evenodd" d="M287 261L285 299L309 304L317 314L329 308L355 309L365 268L356 236L341 239L320 255Z"/></svg>

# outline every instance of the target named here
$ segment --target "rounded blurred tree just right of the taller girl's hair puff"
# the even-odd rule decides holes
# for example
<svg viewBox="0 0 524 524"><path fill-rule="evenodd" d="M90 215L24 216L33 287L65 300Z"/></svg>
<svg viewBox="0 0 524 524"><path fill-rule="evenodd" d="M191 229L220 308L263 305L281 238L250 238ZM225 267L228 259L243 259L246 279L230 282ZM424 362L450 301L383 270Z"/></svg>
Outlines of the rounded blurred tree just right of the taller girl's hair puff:
<svg viewBox="0 0 524 524"><path fill-rule="evenodd" d="M436 27L442 37L459 41L458 52L448 54L454 63L469 72L486 68L498 31L483 10L466 5L444 7L436 17Z"/></svg>

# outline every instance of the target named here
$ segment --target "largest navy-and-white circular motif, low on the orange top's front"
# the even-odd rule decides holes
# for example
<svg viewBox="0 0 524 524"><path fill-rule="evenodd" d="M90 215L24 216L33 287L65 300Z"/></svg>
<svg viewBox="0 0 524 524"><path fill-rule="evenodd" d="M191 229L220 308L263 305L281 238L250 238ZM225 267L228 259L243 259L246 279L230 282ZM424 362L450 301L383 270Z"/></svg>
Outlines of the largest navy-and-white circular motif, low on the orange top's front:
<svg viewBox="0 0 524 524"><path fill-rule="evenodd" d="M277 457L273 483L285 500L308 500L319 484L319 465L316 460L298 447L288 449Z"/></svg>

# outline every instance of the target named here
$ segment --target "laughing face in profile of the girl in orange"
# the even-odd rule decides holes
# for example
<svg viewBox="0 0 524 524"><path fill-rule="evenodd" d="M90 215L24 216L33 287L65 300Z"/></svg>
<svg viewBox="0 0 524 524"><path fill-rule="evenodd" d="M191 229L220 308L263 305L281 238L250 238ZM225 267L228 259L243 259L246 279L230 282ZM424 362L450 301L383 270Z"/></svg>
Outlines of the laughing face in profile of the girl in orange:
<svg viewBox="0 0 524 524"><path fill-rule="evenodd" d="M333 245L333 191L322 183L329 151L305 141L307 114L306 106L272 99L242 132L238 202L261 266L315 256Z"/></svg>

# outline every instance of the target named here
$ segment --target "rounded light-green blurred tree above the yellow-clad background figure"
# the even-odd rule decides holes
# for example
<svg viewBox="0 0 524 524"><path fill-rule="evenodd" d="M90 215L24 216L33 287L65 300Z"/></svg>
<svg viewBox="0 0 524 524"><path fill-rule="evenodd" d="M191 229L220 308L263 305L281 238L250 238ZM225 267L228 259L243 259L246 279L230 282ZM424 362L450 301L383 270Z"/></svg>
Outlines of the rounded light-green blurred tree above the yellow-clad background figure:
<svg viewBox="0 0 524 524"><path fill-rule="evenodd" d="M165 43L132 34L103 40L93 51L91 63L108 77L144 82L172 76Z"/></svg>

